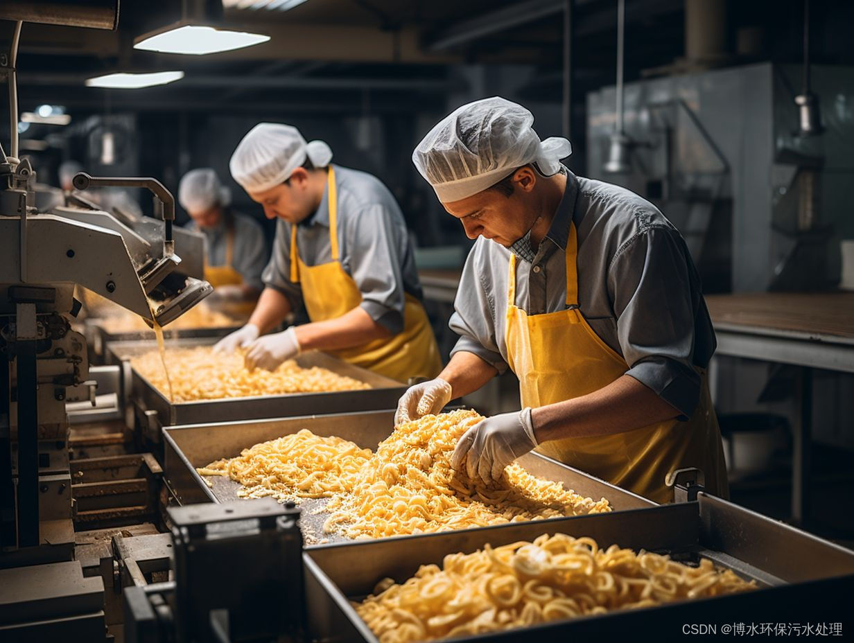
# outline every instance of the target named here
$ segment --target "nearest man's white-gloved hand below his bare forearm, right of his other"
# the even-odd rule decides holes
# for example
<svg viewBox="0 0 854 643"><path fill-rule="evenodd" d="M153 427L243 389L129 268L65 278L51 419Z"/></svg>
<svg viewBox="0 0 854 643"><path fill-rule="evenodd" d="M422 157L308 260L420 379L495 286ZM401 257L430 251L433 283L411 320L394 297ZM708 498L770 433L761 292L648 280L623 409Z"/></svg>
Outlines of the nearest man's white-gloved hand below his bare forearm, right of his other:
<svg viewBox="0 0 854 643"><path fill-rule="evenodd" d="M472 480L498 480L506 465L537 446L530 407L486 418L459 438L451 468L465 471Z"/></svg>

